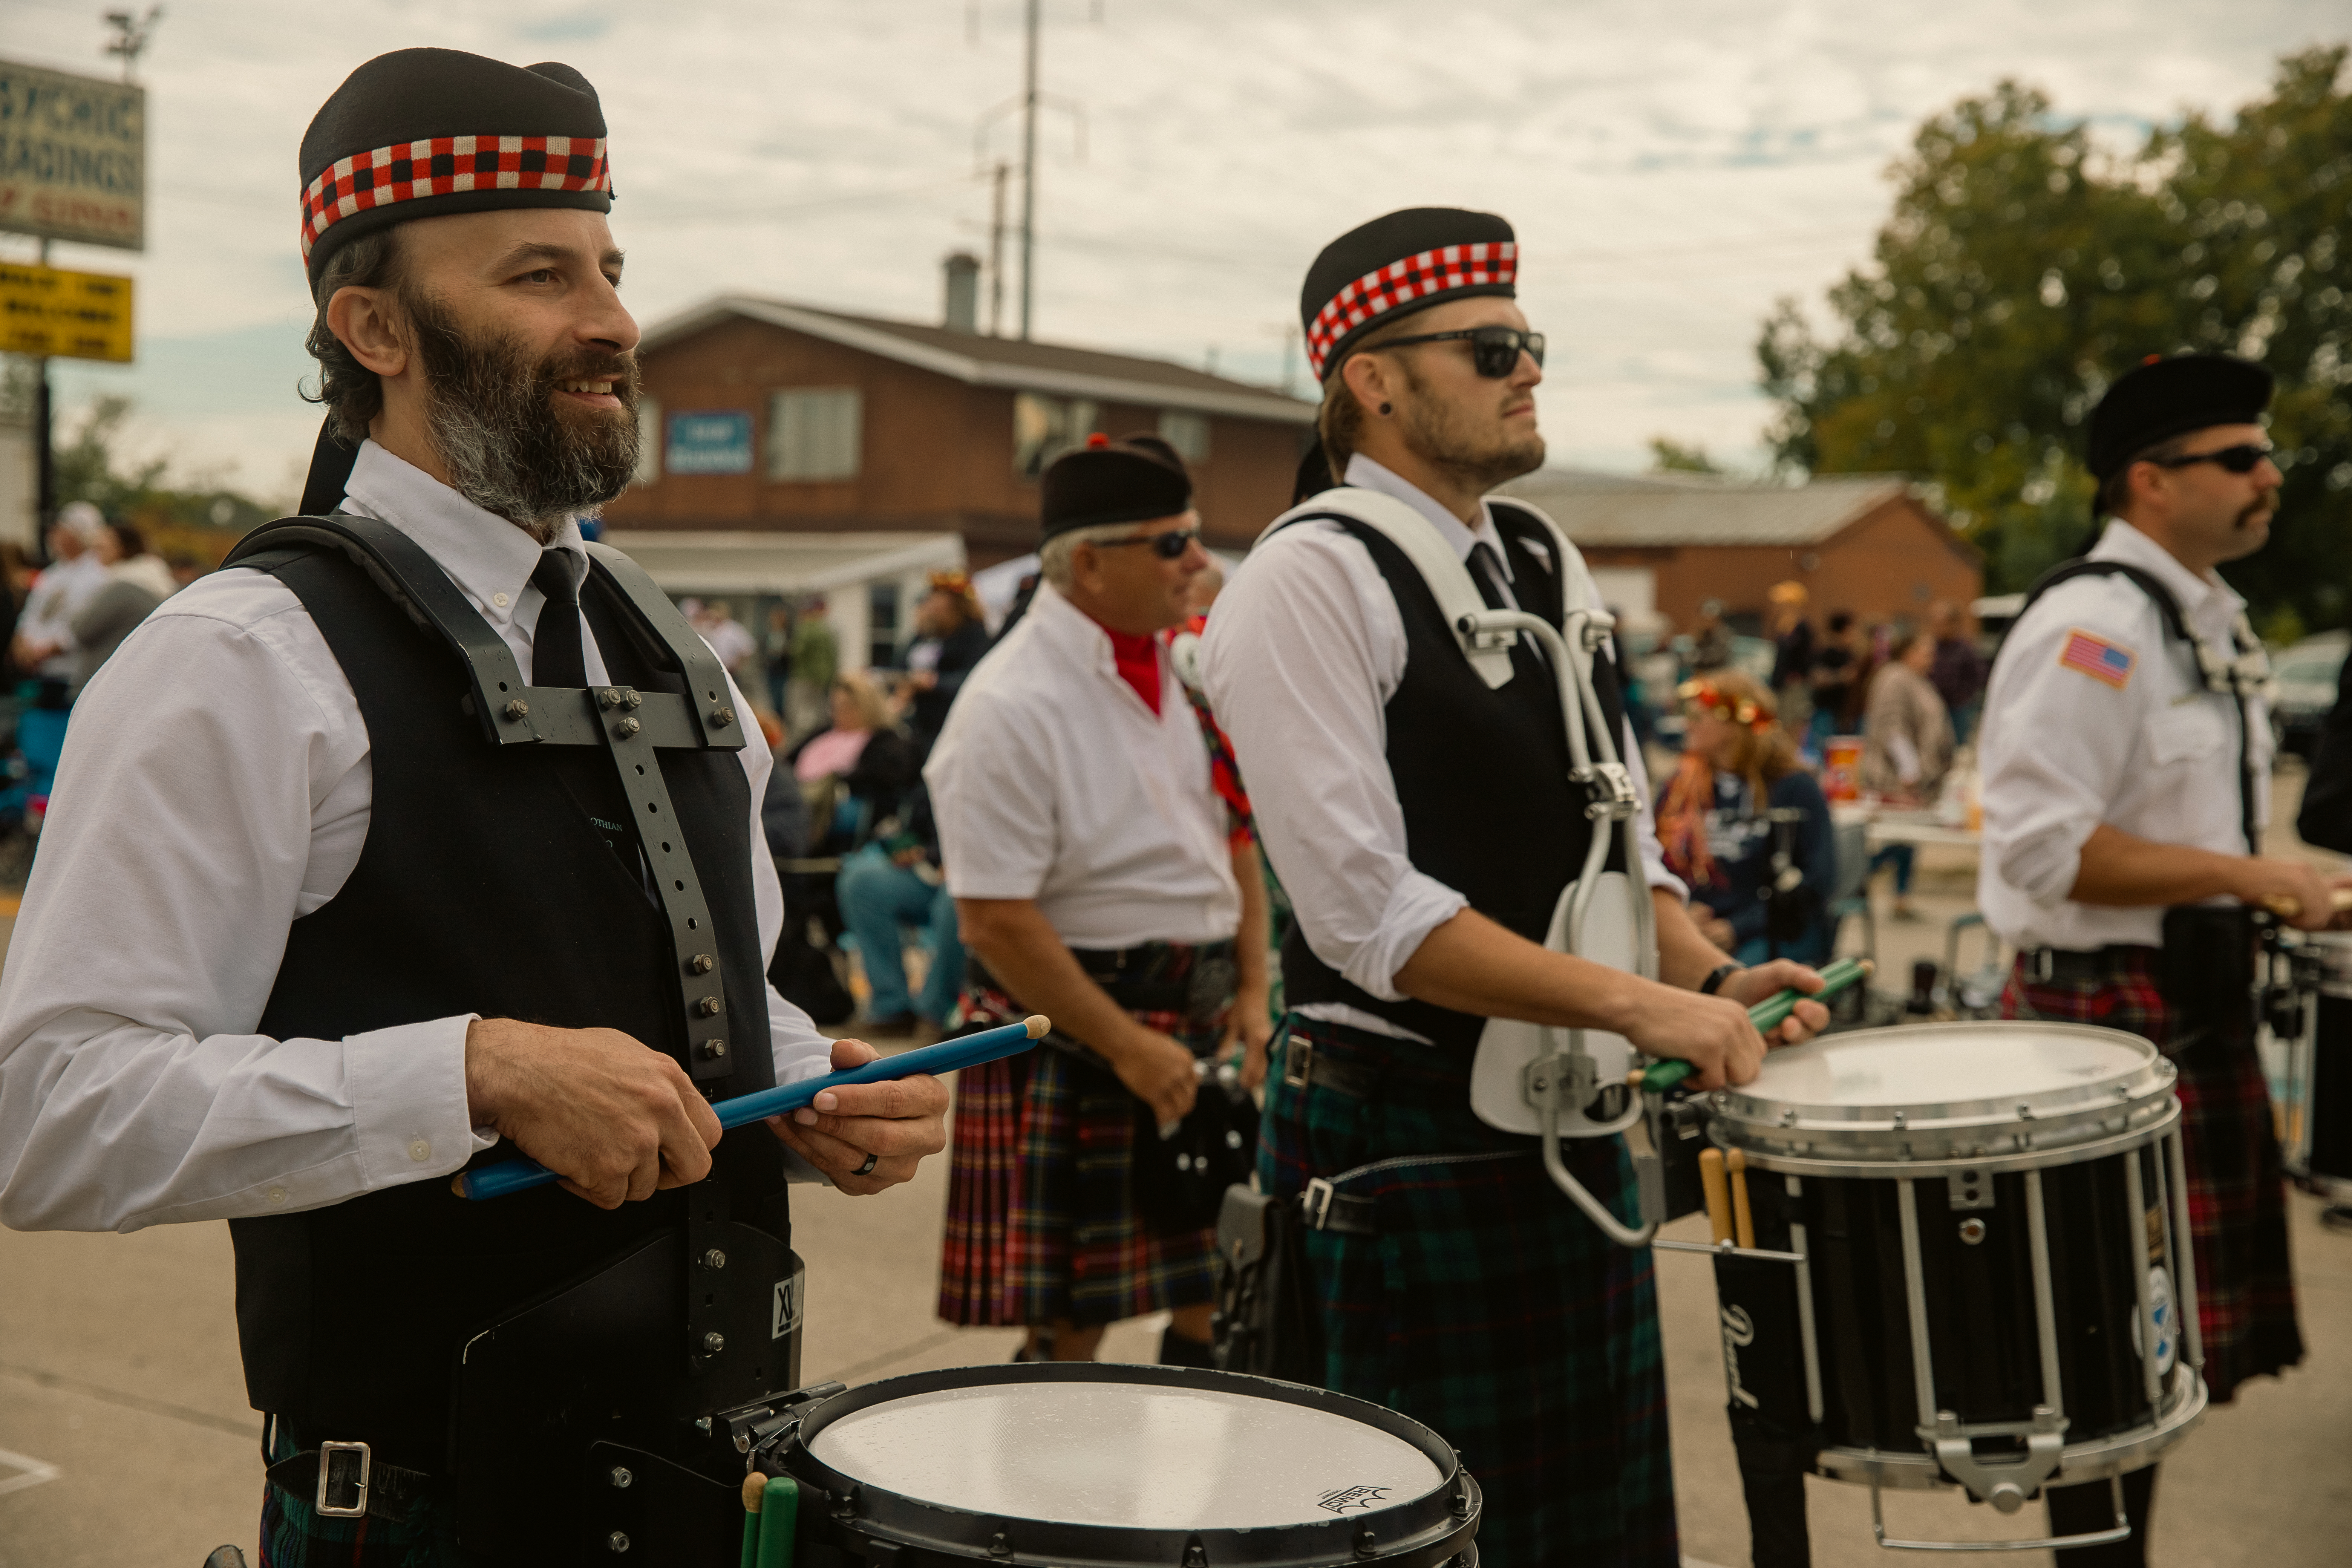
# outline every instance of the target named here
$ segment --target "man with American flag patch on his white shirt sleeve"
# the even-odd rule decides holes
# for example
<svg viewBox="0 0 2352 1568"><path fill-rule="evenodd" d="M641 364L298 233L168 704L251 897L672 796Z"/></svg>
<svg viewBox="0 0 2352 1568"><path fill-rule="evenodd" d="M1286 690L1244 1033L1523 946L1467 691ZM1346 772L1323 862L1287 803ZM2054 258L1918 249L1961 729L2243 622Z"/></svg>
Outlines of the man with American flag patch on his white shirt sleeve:
<svg viewBox="0 0 2352 1568"><path fill-rule="evenodd" d="M2126 1027L2180 1067L2216 1401L2303 1359L2253 1051L2253 912L2331 917L2314 865L2260 853L2270 668L2216 574L2270 538L2267 404L2270 371L2227 355L2152 357L2107 388L2089 456L2110 522L2027 597L1983 715L1978 903L2018 952L2002 1013ZM2154 1476L2126 1476L2131 1540L2058 1556L2143 1563ZM2049 1505L2058 1535L2112 1526L2105 1481L2051 1488Z"/></svg>

